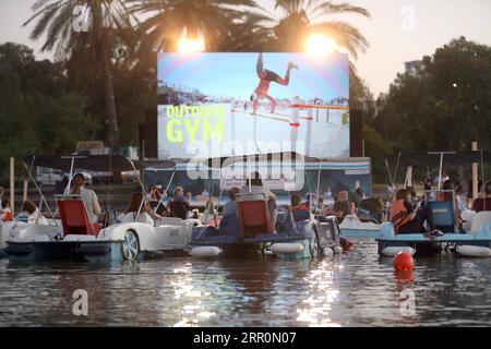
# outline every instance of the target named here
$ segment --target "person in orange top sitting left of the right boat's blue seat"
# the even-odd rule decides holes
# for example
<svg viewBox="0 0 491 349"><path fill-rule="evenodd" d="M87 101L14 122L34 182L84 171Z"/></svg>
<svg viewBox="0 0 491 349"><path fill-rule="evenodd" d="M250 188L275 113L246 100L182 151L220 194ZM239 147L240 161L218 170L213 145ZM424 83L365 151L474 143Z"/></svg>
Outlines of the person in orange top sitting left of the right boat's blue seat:
<svg viewBox="0 0 491 349"><path fill-rule="evenodd" d="M391 207L391 221L396 233L426 232L424 222L429 219L428 207L415 212L411 204L411 192L407 189L397 191Z"/></svg>

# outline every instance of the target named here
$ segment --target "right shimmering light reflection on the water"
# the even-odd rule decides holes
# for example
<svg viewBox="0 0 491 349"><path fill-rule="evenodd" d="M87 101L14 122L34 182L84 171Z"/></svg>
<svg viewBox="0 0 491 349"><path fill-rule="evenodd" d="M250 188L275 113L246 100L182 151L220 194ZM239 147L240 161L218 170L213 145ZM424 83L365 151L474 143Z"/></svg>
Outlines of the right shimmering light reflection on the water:
<svg viewBox="0 0 491 349"><path fill-rule="evenodd" d="M331 320L332 304L339 297L339 290L333 289L334 268L333 264L324 261L304 278L310 296L297 309L298 322L309 326L340 326Z"/></svg>

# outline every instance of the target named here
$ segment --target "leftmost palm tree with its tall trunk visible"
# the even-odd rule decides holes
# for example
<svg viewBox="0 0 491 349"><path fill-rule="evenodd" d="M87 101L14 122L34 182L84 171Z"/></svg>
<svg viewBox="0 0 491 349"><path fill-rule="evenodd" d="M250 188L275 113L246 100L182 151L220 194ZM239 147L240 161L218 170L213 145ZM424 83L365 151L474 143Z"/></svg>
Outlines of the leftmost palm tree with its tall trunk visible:
<svg viewBox="0 0 491 349"><path fill-rule="evenodd" d="M23 25L36 21L32 39L46 36L41 51L55 50L57 59L70 59L77 70L99 72L103 82L108 139L119 149L119 128L111 74L117 36L130 33L131 15L123 0L37 0L34 14Z"/></svg>

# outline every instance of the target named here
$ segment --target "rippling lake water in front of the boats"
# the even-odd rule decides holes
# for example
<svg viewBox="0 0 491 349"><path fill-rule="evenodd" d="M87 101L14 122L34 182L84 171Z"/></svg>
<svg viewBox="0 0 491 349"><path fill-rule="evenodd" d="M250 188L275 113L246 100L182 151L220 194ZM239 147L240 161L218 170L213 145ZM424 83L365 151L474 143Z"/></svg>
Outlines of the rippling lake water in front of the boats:
<svg viewBox="0 0 491 349"><path fill-rule="evenodd" d="M368 240L314 262L2 260L0 325L491 325L491 258L443 254L415 262L412 278L395 275L392 260L379 258ZM76 289L87 291L87 316L72 313Z"/></svg>

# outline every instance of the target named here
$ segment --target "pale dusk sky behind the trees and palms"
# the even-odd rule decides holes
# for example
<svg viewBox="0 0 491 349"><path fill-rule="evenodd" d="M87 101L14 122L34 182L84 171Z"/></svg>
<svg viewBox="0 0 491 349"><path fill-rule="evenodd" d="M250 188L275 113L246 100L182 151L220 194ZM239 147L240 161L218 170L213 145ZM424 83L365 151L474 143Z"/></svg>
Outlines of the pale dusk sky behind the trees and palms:
<svg viewBox="0 0 491 349"><path fill-rule="evenodd" d="M273 0L258 1L274 10ZM335 1L335 2L345 2ZM370 43L355 64L360 76L375 96L387 92L388 85L404 62L431 55L452 38L491 45L491 0L349 0L351 4L369 10L371 19L355 15L336 15L360 29ZM33 47L39 58L51 53L38 52L40 43L29 40L32 26L22 27L31 15L33 0L0 1L0 43L15 41ZM276 12L275 16L279 17ZM412 21L414 20L414 21Z"/></svg>

